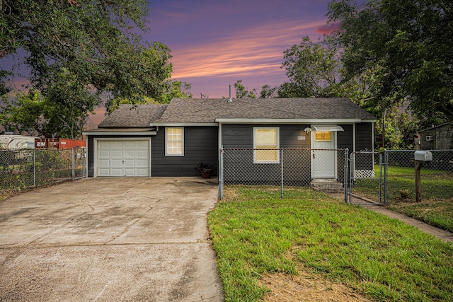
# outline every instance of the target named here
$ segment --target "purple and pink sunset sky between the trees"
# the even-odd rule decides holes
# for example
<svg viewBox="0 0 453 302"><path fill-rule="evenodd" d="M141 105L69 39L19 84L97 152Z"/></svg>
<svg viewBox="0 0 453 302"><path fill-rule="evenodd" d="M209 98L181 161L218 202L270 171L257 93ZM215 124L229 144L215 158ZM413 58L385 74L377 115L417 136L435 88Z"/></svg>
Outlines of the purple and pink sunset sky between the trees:
<svg viewBox="0 0 453 302"><path fill-rule="evenodd" d="M173 79L192 84L194 98L228 97L243 80L258 93L287 81L283 52L302 37L328 33L329 0L149 1L150 33L173 54ZM234 89L233 94L234 94Z"/></svg>

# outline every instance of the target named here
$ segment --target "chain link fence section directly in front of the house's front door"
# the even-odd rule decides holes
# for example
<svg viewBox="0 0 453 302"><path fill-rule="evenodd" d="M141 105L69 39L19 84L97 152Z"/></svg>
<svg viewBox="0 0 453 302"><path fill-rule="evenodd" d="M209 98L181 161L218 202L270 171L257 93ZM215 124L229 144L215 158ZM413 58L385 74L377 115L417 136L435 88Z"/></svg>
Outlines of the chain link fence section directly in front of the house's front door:
<svg viewBox="0 0 453 302"><path fill-rule="evenodd" d="M280 187L283 198L285 187L310 187L312 173L326 170L336 182L318 185L343 190L347 154L344 149L221 149L219 197L224 185L273 185ZM317 165L312 158L317 158Z"/></svg>

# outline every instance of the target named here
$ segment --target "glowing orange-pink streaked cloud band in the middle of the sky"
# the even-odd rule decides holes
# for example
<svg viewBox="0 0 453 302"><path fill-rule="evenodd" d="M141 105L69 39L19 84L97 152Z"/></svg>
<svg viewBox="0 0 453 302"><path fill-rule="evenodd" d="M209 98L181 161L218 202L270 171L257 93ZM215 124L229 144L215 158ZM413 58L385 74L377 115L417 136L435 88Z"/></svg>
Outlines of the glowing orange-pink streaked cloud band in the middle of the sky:
<svg viewBox="0 0 453 302"><path fill-rule="evenodd" d="M283 51L324 24L268 23L203 45L182 46L173 50L173 78L281 74Z"/></svg>

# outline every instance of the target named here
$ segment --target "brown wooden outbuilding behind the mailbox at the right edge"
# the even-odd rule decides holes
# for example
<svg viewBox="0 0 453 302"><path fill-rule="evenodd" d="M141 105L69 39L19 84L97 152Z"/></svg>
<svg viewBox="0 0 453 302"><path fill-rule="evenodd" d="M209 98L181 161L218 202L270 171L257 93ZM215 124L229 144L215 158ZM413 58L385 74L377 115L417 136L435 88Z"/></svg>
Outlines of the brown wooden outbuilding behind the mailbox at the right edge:
<svg viewBox="0 0 453 302"><path fill-rule="evenodd" d="M417 142L415 150L452 150L453 122L418 132Z"/></svg>

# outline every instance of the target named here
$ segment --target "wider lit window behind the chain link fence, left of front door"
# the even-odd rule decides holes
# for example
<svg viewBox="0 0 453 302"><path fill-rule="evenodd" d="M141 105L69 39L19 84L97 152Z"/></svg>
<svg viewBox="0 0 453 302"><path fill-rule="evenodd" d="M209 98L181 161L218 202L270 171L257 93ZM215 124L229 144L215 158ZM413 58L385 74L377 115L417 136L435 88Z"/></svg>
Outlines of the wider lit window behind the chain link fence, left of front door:
<svg viewBox="0 0 453 302"><path fill-rule="evenodd" d="M253 128L253 163L279 163L279 128Z"/></svg>

